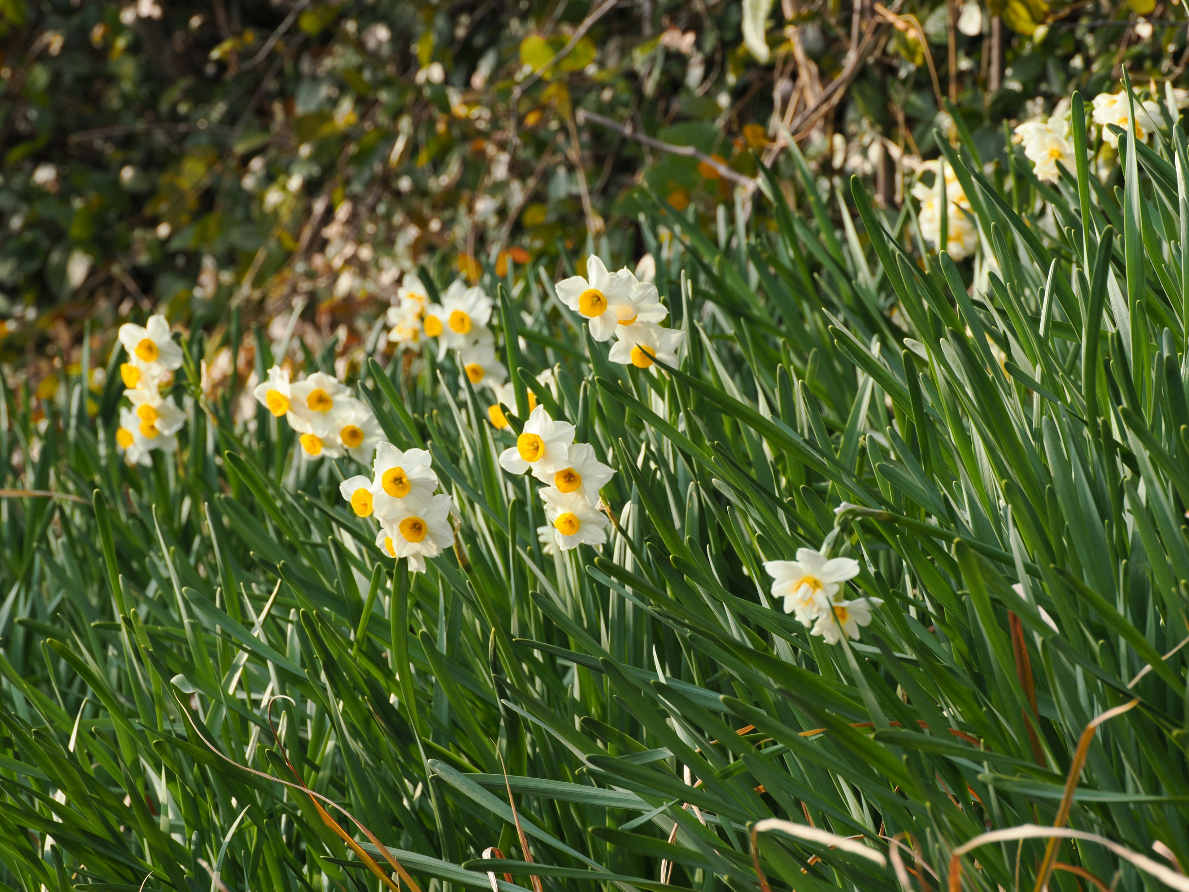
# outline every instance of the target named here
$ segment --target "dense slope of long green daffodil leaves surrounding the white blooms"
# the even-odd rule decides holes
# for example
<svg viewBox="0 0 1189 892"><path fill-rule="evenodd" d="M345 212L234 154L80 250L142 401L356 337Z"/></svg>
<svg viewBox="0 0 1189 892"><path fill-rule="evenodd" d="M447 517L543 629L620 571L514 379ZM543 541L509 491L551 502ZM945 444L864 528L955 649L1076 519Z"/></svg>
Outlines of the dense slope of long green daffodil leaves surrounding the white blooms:
<svg viewBox="0 0 1189 892"><path fill-rule="evenodd" d="M65 401L6 389L2 887L1185 888L1189 158L1120 131L1108 191L1086 117L1027 195L938 139L976 265L806 168L810 221L767 177L774 227L741 205L717 241L641 191L679 366L486 270L507 365L554 369L617 471L599 548L546 553L515 427L432 352L351 372L459 508L423 574L347 459L201 387L210 337L271 364L238 314L183 335L151 469L112 447L119 351L97 421L89 354ZM858 561L860 639L773 601L798 548Z"/></svg>

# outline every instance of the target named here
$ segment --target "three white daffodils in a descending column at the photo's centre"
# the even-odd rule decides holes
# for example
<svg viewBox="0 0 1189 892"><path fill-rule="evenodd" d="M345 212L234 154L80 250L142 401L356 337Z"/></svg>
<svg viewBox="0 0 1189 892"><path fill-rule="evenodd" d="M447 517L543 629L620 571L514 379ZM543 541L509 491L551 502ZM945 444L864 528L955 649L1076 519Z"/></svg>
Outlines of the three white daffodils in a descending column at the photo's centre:
<svg viewBox="0 0 1189 892"><path fill-rule="evenodd" d="M499 465L509 473L531 471L541 483L551 484L541 490L541 501L552 526L537 529L547 546L568 551L606 541L606 517L598 509L598 494L615 470L598 460L593 446L574 442L573 425L554 421L537 406L516 445L501 453Z"/></svg>

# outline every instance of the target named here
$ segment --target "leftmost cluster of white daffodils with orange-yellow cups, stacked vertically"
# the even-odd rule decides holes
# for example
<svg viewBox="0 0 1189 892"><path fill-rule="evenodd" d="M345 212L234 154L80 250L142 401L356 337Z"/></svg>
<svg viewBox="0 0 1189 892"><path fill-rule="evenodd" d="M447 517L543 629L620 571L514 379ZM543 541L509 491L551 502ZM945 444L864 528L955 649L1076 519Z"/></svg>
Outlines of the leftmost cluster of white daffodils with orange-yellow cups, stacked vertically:
<svg viewBox="0 0 1189 892"><path fill-rule="evenodd" d="M132 406L120 407L115 445L130 465L151 465L153 450L171 452L177 445L174 434L185 423L174 397L161 395L182 366L182 348L170 337L165 316L150 316L144 327L122 325L119 339L128 353L120 377Z"/></svg>

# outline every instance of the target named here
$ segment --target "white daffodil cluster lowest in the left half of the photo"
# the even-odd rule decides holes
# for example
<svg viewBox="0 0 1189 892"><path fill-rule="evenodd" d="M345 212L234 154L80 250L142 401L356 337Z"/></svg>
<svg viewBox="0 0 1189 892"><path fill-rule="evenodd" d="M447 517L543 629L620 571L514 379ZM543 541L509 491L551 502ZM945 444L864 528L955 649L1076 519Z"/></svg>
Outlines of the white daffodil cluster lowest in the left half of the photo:
<svg viewBox="0 0 1189 892"><path fill-rule="evenodd" d="M378 545L390 558L408 558L409 570L426 571L426 558L436 558L454 544L453 500L438 492L429 453L398 450L379 442L372 476L357 475L339 484L339 492L359 517L379 521Z"/></svg>

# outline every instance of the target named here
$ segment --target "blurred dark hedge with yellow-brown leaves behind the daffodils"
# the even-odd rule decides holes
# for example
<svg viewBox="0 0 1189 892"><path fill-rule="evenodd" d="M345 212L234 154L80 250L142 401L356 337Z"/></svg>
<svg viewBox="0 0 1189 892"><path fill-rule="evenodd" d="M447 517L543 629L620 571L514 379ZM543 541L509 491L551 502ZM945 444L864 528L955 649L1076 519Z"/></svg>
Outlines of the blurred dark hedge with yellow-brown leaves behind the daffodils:
<svg viewBox="0 0 1189 892"><path fill-rule="evenodd" d="M0 0L0 359L36 383L81 318L106 354L155 308L298 296L341 350L423 263L640 257L641 184L722 231L760 162L795 206L789 138L889 208L938 125L1002 182L1008 125L1124 65L1176 78L1184 24L1177 0Z"/></svg>

